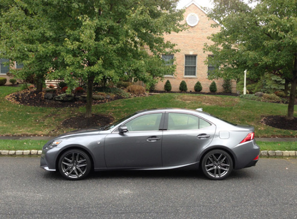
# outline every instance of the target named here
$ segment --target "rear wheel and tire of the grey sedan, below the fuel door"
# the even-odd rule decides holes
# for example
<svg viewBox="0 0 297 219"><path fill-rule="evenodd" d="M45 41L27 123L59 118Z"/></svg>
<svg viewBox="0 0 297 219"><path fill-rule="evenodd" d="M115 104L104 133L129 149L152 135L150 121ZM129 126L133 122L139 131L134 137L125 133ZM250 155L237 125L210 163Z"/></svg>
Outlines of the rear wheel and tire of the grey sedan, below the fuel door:
<svg viewBox="0 0 297 219"><path fill-rule="evenodd" d="M230 155L224 150L211 150L202 159L201 168L206 177L211 180L223 180L233 169Z"/></svg>

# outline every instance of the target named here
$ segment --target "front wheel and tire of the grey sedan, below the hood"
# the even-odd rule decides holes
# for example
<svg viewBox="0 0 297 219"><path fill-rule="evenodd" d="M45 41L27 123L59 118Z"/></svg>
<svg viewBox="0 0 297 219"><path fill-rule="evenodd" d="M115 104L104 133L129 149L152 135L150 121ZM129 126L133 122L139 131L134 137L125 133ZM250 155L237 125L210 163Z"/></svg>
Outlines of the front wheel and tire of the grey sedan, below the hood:
<svg viewBox="0 0 297 219"><path fill-rule="evenodd" d="M62 177L67 180L81 180L90 173L92 162L86 152L70 149L61 155L58 165Z"/></svg>

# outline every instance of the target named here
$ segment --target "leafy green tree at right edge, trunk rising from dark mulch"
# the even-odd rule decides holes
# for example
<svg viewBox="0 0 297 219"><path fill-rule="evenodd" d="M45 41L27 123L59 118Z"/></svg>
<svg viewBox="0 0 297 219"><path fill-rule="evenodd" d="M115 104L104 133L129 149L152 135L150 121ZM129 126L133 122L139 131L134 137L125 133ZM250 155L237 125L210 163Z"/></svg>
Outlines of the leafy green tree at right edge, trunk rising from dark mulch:
<svg viewBox="0 0 297 219"><path fill-rule="evenodd" d="M293 119L297 85L297 4L295 0L260 0L252 8L242 0L214 0L209 17L218 21L221 32L205 51L208 60L221 68L213 78L237 78L244 70L254 78L265 73L291 83L287 118ZM218 26L218 25L216 25ZM207 62L206 61L206 62Z"/></svg>

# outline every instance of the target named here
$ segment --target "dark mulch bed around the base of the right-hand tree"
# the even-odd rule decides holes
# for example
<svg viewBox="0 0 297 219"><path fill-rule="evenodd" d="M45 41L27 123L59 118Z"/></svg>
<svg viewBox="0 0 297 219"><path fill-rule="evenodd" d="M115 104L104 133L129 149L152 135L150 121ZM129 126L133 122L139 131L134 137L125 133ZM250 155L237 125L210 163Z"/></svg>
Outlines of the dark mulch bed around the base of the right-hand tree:
<svg viewBox="0 0 297 219"><path fill-rule="evenodd" d="M267 116L261 122L274 128L297 130L297 118L286 119L284 116Z"/></svg>

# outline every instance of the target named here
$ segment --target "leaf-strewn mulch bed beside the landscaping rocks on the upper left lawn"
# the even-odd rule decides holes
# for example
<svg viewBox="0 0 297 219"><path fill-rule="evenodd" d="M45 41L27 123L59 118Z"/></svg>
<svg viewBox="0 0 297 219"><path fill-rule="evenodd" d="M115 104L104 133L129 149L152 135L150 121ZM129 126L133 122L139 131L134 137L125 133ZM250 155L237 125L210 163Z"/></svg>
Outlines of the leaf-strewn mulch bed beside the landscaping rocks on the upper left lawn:
<svg viewBox="0 0 297 219"><path fill-rule="evenodd" d="M40 107L79 107L86 105L84 101L73 101L73 102L61 102L55 100L47 100L44 99L45 91L36 92L35 90L24 90L20 92L16 92L10 94L6 97L7 100L22 104L22 105L30 105L30 106L40 106ZM110 99L104 100L93 100L92 104L100 104L106 103L113 100L123 99L121 96L113 96Z"/></svg>

